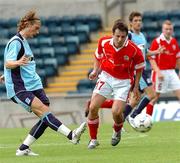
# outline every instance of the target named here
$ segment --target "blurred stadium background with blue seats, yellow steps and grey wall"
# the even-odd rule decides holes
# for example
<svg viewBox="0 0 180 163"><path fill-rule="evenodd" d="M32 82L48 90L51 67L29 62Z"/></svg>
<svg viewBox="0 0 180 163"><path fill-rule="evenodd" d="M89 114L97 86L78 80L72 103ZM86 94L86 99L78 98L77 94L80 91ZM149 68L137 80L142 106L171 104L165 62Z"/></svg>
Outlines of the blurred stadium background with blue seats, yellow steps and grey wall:
<svg viewBox="0 0 180 163"><path fill-rule="evenodd" d="M180 0L0 0L0 73L3 51L8 39L16 34L19 18L35 9L41 16L38 37L29 40L35 54L37 71L51 100L51 109L66 124L84 120L84 107L94 82L87 79L93 66L98 38L111 34L114 20L131 11L143 14L143 32L148 43L161 32L161 23L174 23L174 36L180 43ZM128 21L127 21L128 22ZM21 107L6 99L0 85L0 127L30 127L36 121ZM171 109L171 110L169 110ZM170 93L155 107L154 121L180 120L180 105ZM101 120L111 122L109 110L101 111Z"/></svg>

